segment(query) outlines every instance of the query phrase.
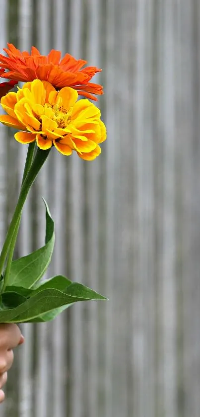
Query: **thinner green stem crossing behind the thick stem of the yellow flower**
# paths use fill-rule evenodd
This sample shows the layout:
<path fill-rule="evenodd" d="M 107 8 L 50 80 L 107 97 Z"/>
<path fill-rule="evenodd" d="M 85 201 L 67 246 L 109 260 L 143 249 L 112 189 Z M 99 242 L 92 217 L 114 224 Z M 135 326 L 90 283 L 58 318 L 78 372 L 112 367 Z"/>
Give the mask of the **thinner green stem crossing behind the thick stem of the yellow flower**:
<path fill-rule="evenodd" d="M 32 164 L 32 161 L 33 161 L 33 156 L 34 156 L 35 145 L 36 145 L 36 142 L 32 142 L 28 146 L 28 151 L 27 151 L 27 156 L 26 156 L 26 163 L 25 163 L 25 167 L 24 167 L 24 173 L 23 173 L 21 186 L 23 185 L 24 180 L 26 178 L 26 175 L 27 175 L 27 173 L 28 173 L 28 171 L 31 167 L 31 164 Z M 18 231 L 19 231 L 20 220 L 21 220 L 21 215 L 20 215 L 19 220 L 16 224 L 16 227 L 14 229 L 14 233 L 13 233 L 13 236 L 12 236 L 12 240 L 10 242 L 10 247 L 9 247 L 9 252 L 8 252 L 7 262 L 6 262 L 6 268 L 5 268 L 5 272 L 4 272 L 4 282 L 7 282 L 8 279 L 9 279 L 8 277 L 9 277 L 9 274 L 10 274 L 12 257 L 13 257 L 13 253 L 14 253 L 14 248 L 15 248 L 15 243 L 16 243 L 16 240 L 17 240 Z"/>

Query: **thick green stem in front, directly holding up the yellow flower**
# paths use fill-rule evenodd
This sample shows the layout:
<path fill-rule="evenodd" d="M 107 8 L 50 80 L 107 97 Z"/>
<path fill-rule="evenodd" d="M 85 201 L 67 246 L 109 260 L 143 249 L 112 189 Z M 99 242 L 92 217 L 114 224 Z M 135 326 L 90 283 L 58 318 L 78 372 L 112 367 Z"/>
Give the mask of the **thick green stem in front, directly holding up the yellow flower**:
<path fill-rule="evenodd" d="M 7 256 L 7 252 L 9 250 L 9 246 L 15 231 L 15 228 L 17 226 L 17 223 L 20 219 L 21 216 L 21 211 L 23 208 L 23 205 L 25 203 L 28 191 L 33 183 L 33 181 L 35 180 L 38 172 L 40 171 L 40 169 L 42 168 L 43 164 L 45 163 L 48 155 L 49 155 L 50 149 L 43 151 L 40 148 L 37 149 L 33 164 L 30 167 L 30 170 L 23 182 L 23 185 L 21 187 L 21 191 L 19 194 L 19 199 L 17 202 L 17 205 L 15 207 L 15 211 L 12 217 L 12 220 L 10 222 L 10 226 L 8 228 L 7 231 L 7 235 L 5 238 L 5 242 L 3 244 L 3 248 L 1 250 L 0 253 L 0 274 L 2 273 L 2 269 L 3 269 L 3 265 Z M 7 276 L 7 280 L 3 280 L 3 286 L 2 286 L 2 290 L 1 292 L 4 291 L 5 287 L 7 286 L 7 281 L 8 281 L 9 276 Z"/>

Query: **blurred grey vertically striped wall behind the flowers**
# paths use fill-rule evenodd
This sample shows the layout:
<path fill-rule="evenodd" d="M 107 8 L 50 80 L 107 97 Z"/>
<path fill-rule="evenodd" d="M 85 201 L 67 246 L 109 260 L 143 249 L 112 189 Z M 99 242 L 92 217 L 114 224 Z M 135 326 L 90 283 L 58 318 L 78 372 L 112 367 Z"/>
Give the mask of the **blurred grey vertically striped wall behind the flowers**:
<path fill-rule="evenodd" d="M 54 149 L 18 250 L 56 224 L 48 277 L 106 295 L 24 325 L 1 417 L 200 416 L 200 0 L 0 0 L 0 50 L 55 48 L 103 68 L 108 139 Z M 0 245 L 27 147 L 0 126 Z"/>

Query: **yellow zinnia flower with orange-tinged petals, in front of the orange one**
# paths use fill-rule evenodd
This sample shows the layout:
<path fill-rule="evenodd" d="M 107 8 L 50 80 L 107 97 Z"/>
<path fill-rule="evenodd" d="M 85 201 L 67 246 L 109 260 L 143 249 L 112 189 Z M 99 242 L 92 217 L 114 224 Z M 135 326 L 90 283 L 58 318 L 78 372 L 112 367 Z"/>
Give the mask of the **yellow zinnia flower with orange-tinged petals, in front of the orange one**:
<path fill-rule="evenodd" d="M 36 140 L 40 149 L 54 145 L 64 155 L 76 151 L 80 158 L 92 161 L 101 153 L 98 144 L 105 141 L 106 128 L 100 110 L 89 100 L 77 98 L 73 88 L 57 91 L 47 81 L 34 80 L 1 98 L 7 114 L 0 116 L 0 122 L 21 130 L 14 135 L 20 143 Z"/>

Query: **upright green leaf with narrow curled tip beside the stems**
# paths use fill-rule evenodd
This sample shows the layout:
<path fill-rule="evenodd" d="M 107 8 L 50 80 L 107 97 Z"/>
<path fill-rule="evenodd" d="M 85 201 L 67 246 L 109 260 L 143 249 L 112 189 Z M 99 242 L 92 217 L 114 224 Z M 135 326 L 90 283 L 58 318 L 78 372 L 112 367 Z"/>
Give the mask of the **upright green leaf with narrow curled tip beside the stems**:
<path fill-rule="evenodd" d="M 54 222 L 45 200 L 44 203 L 46 206 L 45 246 L 27 256 L 12 261 L 9 285 L 32 288 L 44 275 L 51 261 L 55 242 Z"/>

